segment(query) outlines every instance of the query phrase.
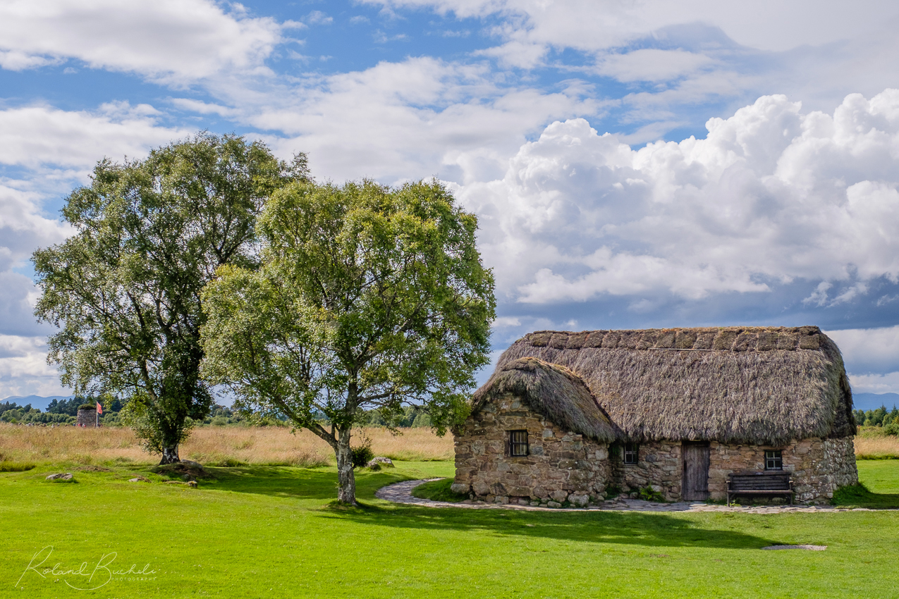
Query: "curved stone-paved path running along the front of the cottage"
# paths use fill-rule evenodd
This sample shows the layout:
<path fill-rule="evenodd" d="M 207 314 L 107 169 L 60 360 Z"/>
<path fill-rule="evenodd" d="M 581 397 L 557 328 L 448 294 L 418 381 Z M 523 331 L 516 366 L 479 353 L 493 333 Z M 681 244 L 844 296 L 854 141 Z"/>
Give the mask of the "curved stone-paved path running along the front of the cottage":
<path fill-rule="evenodd" d="M 643 499 L 606 499 L 600 505 L 590 507 L 539 507 L 516 506 L 513 504 L 488 504 L 484 501 L 466 500 L 461 503 L 449 501 L 432 501 L 432 499 L 420 499 L 412 497 L 412 489 L 424 482 L 441 479 L 404 480 L 395 482 L 387 487 L 381 487 L 375 493 L 378 499 L 386 499 L 395 503 L 404 503 L 412 506 L 423 507 L 461 507 L 464 509 L 521 509 L 531 512 L 583 512 L 583 511 L 610 511 L 610 512 L 743 512 L 744 514 L 785 514 L 788 512 L 874 512 L 884 510 L 872 510 L 867 507 L 832 507 L 832 506 L 719 506 L 708 503 L 654 503 Z"/>

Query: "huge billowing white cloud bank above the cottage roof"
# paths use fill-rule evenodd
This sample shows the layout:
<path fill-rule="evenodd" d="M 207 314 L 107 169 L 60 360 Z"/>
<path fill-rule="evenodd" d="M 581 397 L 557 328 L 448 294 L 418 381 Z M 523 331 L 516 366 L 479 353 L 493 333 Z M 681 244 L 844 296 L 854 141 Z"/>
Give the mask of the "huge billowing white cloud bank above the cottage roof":
<path fill-rule="evenodd" d="M 852 94 L 832 115 L 763 96 L 707 128 L 635 151 L 555 122 L 503 180 L 459 187 L 503 295 L 636 303 L 803 279 L 819 282 L 806 304 L 832 305 L 899 281 L 899 91 Z"/>

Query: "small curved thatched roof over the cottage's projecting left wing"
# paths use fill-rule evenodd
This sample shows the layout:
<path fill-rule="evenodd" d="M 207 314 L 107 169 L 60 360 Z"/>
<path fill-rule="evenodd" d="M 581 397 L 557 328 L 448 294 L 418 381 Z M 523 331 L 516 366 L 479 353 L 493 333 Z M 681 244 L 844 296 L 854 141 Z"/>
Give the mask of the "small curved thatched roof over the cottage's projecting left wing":
<path fill-rule="evenodd" d="M 504 393 L 514 393 L 532 410 L 559 427 L 589 436 L 602 443 L 615 440 L 609 418 L 593 399 L 587 385 L 576 374 L 534 357 L 507 361 L 472 397 L 473 410 Z"/>

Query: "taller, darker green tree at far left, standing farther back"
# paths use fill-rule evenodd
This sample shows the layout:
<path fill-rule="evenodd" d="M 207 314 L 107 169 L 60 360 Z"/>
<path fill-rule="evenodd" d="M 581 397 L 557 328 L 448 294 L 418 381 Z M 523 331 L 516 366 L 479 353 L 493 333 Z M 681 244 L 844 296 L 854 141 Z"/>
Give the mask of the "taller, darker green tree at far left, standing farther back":
<path fill-rule="evenodd" d="M 209 413 L 200 379 L 200 292 L 216 269 L 258 262 L 265 201 L 306 181 L 304 154 L 277 160 L 261 143 L 200 133 L 147 159 L 102 160 L 62 214 L 76 233 L 34 252 L 35 313 L 60 330 L 50 363 L 76 393 L 118 392 L 162 463 L 178 462 L 192 419 Z"/>

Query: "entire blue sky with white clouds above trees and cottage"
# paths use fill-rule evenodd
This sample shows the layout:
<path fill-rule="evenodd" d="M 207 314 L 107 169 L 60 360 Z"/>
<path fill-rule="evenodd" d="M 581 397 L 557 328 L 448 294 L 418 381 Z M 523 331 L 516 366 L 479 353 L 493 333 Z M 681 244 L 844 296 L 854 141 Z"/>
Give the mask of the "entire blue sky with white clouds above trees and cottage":
<path fill-rule="evenodd" d="M 818 324 L 899 392 L 899 5 L 0 5 L 0 398 L 64 393 L 29 257 L 104 156 L 200 129 L 436 176 L 529 330 Z"/>

